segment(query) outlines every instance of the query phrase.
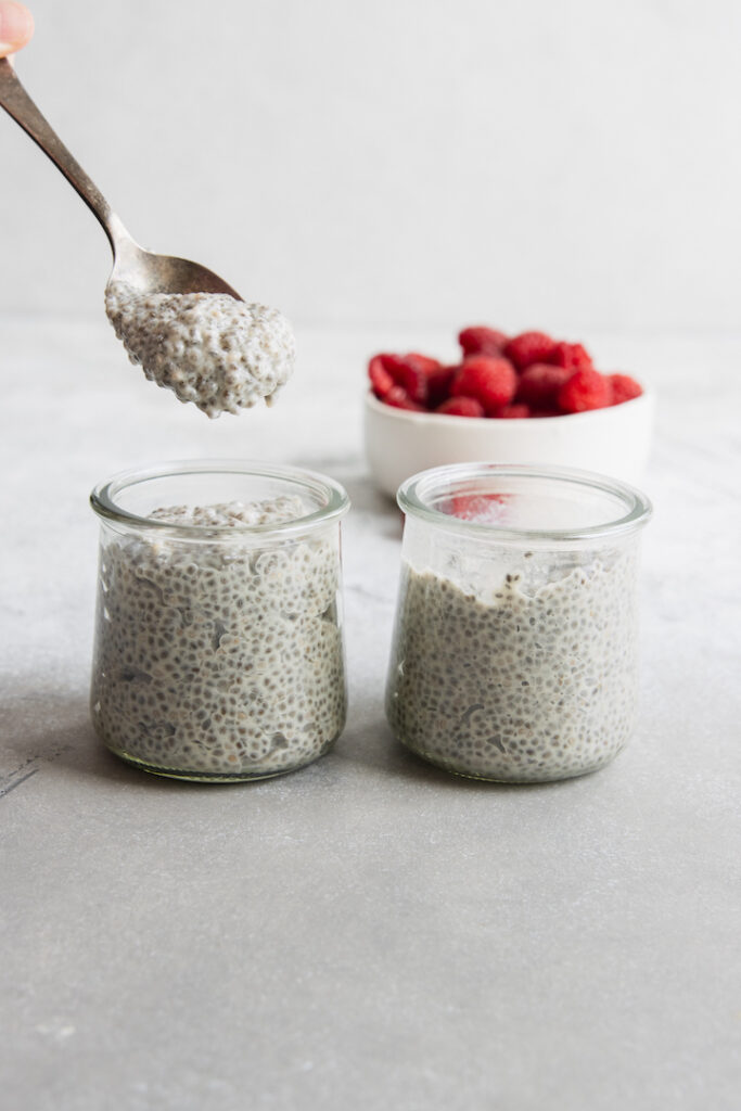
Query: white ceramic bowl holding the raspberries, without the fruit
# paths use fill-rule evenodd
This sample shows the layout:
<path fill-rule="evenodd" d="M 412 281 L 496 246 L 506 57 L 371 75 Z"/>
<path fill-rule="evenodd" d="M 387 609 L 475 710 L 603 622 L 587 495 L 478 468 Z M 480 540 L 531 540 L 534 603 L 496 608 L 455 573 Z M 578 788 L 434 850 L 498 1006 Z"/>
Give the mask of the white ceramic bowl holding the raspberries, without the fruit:
<path fill-rule="evenodd" d="M 366 454 L 385 493 L 443 463 L 551 463 L 640 486 L 651 447 L 654 396 L 563 417 L 497 420 L 420 413 L 366 398 Z"/>

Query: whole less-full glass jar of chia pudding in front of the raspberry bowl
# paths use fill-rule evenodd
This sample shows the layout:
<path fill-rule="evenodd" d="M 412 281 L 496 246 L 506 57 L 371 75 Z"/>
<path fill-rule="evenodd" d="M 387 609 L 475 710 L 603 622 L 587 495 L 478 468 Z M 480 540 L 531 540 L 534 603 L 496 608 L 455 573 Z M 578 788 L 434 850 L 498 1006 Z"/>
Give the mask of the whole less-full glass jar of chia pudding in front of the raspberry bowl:
<path fill-rule="evenodd" d="M 462 463 L 404 482 L 387 685 L 395 737 L 448 771 L 530 783 L 608 763 L 637 711 L 638 490 Z"/>

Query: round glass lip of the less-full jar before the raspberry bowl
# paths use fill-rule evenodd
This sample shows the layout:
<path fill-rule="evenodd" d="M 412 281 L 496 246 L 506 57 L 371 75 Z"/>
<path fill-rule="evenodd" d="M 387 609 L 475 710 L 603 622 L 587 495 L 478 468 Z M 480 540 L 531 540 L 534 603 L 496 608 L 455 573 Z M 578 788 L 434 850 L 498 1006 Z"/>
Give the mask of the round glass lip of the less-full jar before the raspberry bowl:
<path fill-rule="evenodd" d="M 612 498 L 620 498 L 625 512 L 612 520 L 581 529 L 517 529 L 504 528 L 489 521 L 467 521 L 443 513 L 432 508 L 425 501 L 425 496 L 439 491 L 445 486 L 452 487 L 458 481 L 471 481 L 483 478 L 522 478 L 525 480 L 547 479 L 572 487 L 584 487 L 601 491 Z M 651 519 L 653 507 L 650 500 L 635 487 L 607 474 L 593 471 L 578 470 L 571 467 L 548 467 L 529 463 L 450 463 L 444 467 L 432 467 L 429 470 L 412 474 L 401 483 L 397 492 L 399 507 L 405 514 L 428 521 L 454 532 L 469 537 L 497 539 L 502 541 L 550 541 L 558 543 L 577 543 L 584 540 L 613 538 L 634 532 Z"/>

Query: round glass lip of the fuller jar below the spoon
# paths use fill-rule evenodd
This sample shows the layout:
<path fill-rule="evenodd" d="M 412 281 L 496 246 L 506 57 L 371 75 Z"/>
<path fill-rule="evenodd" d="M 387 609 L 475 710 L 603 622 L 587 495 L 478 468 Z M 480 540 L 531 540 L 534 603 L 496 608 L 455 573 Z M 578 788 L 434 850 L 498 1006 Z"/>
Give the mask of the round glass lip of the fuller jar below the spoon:
<path fill-rule="evenodd" d="M 183 474 L 219 473 L 251 474 L 258 478 L 291 481 L 299 487 L 303 487 L 304 490 L 311 491 L 313 494 L 321 496 L 326 500 L 326 503 L 320 509 L 290 521 L 219 527 L 214 524 L 173 524 L 170 521 L 160 521 L 151 517 L 133 513 L 124 509 L 117 501 L 123 490 L 152 479 L 176 478 Z M 344 517 L 350 509 L 350 499 L 344 488 L 339 482 L 336 482 L 334 479 L 301 467 L 260 463 L 244 459 L 184 459 L 119 471 L 93 488 L 90 494 L 90 504 L 99 517 L 119 524 L 147 528 L 153 531 L 167 531 L 171 534 L 177 533 L 178 536 L 188 537 L 191 540 L 208 539 L 213 541 L 217 538 L 229 539 L 239 536 L 264 536 L 266 533 L 286 536 L 306 532 L 313 527 Z"/>

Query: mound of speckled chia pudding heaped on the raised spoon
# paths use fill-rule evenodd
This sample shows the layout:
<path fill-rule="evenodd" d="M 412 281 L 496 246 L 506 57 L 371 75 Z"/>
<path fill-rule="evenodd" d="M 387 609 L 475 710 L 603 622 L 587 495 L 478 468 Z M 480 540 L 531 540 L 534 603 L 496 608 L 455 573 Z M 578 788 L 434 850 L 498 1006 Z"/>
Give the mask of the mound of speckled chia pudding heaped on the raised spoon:
<path fill-rule="evenodd" d="M 131 362 L 209 417 L 270 404 L 296 359 L 277 309 L 226 293 L 143 293 L 109 282 L 106 313 Z"/>

